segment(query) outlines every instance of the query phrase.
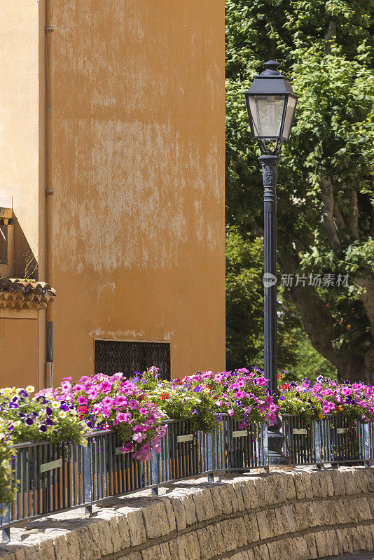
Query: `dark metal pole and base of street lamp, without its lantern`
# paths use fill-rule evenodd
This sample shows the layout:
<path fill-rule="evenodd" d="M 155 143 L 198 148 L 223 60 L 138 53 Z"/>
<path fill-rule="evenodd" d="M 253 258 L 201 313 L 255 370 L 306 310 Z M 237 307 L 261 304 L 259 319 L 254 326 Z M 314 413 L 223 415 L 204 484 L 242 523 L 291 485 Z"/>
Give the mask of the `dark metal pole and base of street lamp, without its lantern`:
<path fill-rule="evenodd" d="M 263 167 L 263 220 L 264 220 L 264 363 L 269 389 L 278 398 L 277 377 L 277 169 L 281 158 L 277 155 L 261 155 L 258 160 Z M 288 465 L 282 454 L 285 437 L 280 433 L 281 421 L 268 431 L 270 465 Z"/>

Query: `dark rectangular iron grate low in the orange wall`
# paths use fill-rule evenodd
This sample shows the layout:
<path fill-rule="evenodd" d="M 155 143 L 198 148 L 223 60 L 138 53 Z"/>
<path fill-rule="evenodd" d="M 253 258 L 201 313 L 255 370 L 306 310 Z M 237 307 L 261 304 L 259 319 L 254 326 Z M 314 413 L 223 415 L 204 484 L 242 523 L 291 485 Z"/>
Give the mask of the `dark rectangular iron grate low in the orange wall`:
<path fill-rule="evenodd" d="M 95 340 L 95 373 L 123 372 L 130 377 L 147 367 L 160 368 L 161 379 L 170 379 L 170 344 L 168 342 L 126 342 Z"/>

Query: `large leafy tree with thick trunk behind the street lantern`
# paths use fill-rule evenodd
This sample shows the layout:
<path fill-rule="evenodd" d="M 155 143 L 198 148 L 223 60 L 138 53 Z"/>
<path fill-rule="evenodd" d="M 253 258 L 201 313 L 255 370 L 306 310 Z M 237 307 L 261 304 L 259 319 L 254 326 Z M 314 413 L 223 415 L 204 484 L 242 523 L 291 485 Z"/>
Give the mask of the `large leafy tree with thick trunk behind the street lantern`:
<path fill-rule="evenodd" d="M 307 276 L 284 297 L 339 376 L 364 381 L 374 372 L 372 22 L 371 0 L 226 2 L 228 224 L 263 235 L 259 152 L 242 93 L 275 58 L 300 95 L 279 166 L 278 262 L 283 274 Z"/>

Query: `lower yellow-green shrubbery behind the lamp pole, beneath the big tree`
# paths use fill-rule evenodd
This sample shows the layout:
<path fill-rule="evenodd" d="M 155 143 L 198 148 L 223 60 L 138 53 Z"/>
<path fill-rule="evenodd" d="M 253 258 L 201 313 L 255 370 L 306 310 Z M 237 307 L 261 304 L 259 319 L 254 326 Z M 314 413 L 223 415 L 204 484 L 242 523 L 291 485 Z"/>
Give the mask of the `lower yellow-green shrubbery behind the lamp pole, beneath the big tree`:
<path fill-rule="evenodd" d="M 278 288 L 279 370 L 288 370 L 287 381 L 335 378 L 335 367 L 310 344 L 298 310 L 283 295 Z M 244 238 L 234 226 L 226 232 L 226 340 L 228 370 L 263 367 L 263 239 Z"/>

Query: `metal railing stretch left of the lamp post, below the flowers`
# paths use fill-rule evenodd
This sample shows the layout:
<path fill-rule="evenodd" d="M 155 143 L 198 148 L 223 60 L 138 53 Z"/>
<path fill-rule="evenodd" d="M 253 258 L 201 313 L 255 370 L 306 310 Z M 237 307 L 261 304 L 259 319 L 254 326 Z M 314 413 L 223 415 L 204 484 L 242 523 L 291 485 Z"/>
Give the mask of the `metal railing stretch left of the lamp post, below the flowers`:
<path fill-rule="evenodd" d="M 111 496 L 152 489 L 175 480 L 214 472 L 250 470 L 268 465 L 268 426 L 240 429 L 223 416 L 216 433 L 193 431 L 185 421 L 165 421 L 160 454 L 138 461 L 123 452 L 113 430 L 88 435 L 88 445 L 50 442 L 16 444 L 13 449 L 15 500 L 0 517 L 3 540 L 10 528 L 52 512 L 86 507 Z"/>

